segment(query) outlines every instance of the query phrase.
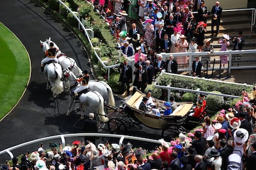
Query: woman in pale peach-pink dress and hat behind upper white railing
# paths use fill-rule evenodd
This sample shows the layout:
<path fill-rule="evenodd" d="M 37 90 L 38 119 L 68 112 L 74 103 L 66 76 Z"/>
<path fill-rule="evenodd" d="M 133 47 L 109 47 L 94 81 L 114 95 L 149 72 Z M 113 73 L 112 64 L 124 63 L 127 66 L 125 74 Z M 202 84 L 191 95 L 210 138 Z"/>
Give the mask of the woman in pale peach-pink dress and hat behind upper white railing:
<path fill-rule="evenodd" d="M 186 39 L 187 37 L 184 34 L 182 34 L 179 38 L 180 39 L 177 44 L 179 52 L 187 52 L 187 47 L 189 47 L 189 44 L 187 43 Z M 177 57 L 178 64 L 187 64 L 187 62 L 187 55 Z"/>

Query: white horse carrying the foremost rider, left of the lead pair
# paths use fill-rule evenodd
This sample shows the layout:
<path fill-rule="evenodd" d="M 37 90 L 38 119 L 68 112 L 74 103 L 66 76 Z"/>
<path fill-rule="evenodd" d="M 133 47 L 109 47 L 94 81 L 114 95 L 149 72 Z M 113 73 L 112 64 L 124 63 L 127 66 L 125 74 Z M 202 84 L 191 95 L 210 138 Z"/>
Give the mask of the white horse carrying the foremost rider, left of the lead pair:
<path fill-rule="evenodd" d="M 41 42 L 41 41 L 40 41 Z M 43 51 L 49 49 L 48 44 L 41 44 Z M 51 89 L 53 97 L 57 97 L 63 91 L 62 68 L 58 63 L 48 63 L 45 65 L 44 73 L 46 75 L 46 89 Z"/>

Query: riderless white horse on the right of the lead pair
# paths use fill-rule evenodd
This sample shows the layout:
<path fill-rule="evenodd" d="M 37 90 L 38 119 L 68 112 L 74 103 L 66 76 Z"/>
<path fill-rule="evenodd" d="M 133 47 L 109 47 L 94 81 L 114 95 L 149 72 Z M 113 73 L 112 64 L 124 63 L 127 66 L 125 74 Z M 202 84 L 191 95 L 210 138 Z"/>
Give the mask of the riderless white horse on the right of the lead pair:
<path fill-rule="evenodd" d="M 49 37 L 49 39 L 46 39 L 45 41 L 48 46 L 51 42 L 51 37 Z M 53 42 L 54 47 L 56 47 L 56 49 L 59 50 L 59 47 L 57 46 L 57 44 L 55 42 Z M 62 53 L 60 50 L 57 52 L 57 58 L 58 58 L 58 62 L 62 67 L 62 70 L 64 70 L 67 67 L 71 67 L 73 73 L 75 74 L 75 76 L 79 77 L 82 75 L 82 70 L 77 66 L 77 63 L 75 62 L 74 59 L 67 57 L 66 54 Z"/>

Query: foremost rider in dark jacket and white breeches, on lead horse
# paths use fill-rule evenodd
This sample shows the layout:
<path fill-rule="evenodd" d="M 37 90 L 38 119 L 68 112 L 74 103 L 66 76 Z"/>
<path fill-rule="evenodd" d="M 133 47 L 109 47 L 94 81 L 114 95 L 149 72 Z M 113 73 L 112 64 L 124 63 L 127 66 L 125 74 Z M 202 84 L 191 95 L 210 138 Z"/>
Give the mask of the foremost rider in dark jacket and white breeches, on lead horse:
<path fill-rule="evenodd" d="M 54 61 L 58 63 L 58 59 L 56 57 L 56 53 L 58 52 L 58 49 L 54 47 L 53 42 L 50 43 L 50 48 L 45 52 L 45 55 L 47 56 L 45 59 L 41 60 L 41 70 L 40 73 L 43 74 L 43 70 L 45 67 L 45 63 L 48 63 L 50 61 Z"/>

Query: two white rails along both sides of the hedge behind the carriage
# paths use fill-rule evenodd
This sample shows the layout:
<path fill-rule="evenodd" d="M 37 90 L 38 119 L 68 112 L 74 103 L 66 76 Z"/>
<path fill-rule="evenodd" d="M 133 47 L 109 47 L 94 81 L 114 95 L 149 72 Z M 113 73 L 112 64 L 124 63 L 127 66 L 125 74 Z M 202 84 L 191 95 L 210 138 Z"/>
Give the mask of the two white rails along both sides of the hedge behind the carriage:
<path fill-rule="evenodd" d="M 170 76 L 180 76 L 181 78 L 187 78 L 187 76 L 184 76 L 184 75 L 177 75 L 177 74 L 173 74 L 173 73 L 165 73 L 165 71 L 161 71 L 160 73 L 160 76 L 163 75 L 163 74 L 166 74 L 166 75 L 170 75 Z M 205 79 L 205 78 L 198 78 L 198 77 L 190 77 L 192 79 Z M 250 84 L 241 84 L 241 83 L 232 83 L 232 82 L 224 82 L 224 81 L 218 81 L 218 80 L 215 80 L 215 79 L 207 79 L 208 81 L 213 81 L 213 82 L 218 82 L 218 83 L 221 83 L 221 84 L 237 84 L 237 85 L 241 85 L 241 86 L 248 86 L 248 87 L 252 87 L 252 85 Z M 168 101 L 169 101 L 169 98 L 171 96 L 171 90 L 174 90 L 174 91 L 184 91 L 184 92 L 194 92 L 196 94 L 200 94 L 200 93 L 203 93 L 203 94 L 211 94 L 211 95 L 218 95 L 218 96 L 222 96 L 222 97 L 231 97 L 231 98 L 240 98 L 241 96 L 236 96 L 236 95 L 229 95 L 229 94 L 218 94 L 218 93 L 215 93 L 215 92 L 207 92 L 207 91 L 201 91 L 200 89 L 196 89 L 196 90 L 193 90 L 193 89 L 184 89 L 184 88 L 179 88 L 179 87 L 171 87 L 171 86 L 161 86 L 161 85 L 158 85 L 158 81 L 156 80 L 155 82 L 155 87 L 158 87 L 160 89 L 167 89 L 168 90 Z"/>

